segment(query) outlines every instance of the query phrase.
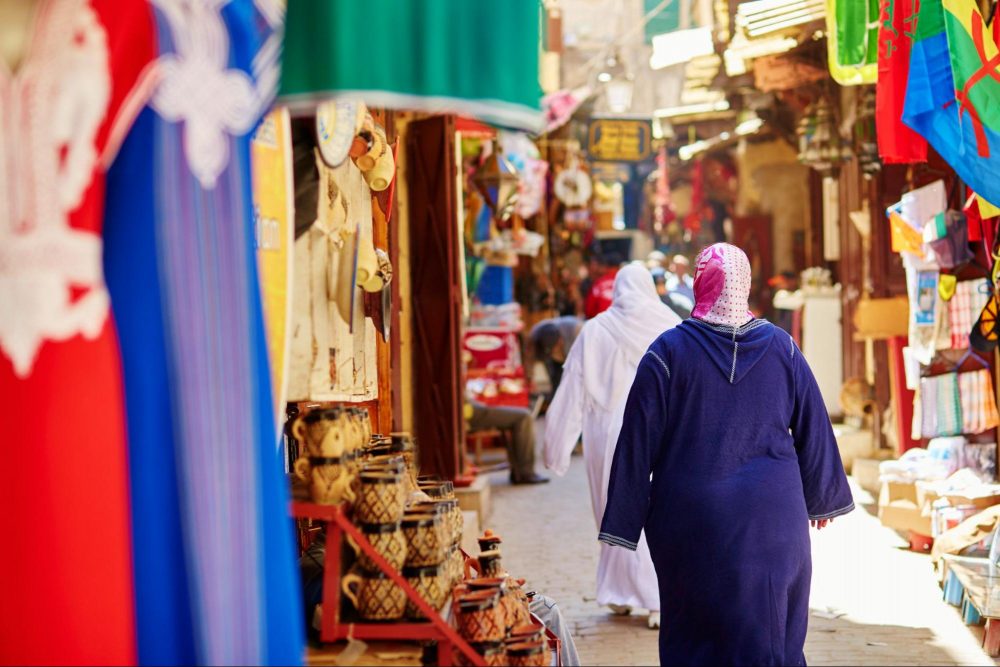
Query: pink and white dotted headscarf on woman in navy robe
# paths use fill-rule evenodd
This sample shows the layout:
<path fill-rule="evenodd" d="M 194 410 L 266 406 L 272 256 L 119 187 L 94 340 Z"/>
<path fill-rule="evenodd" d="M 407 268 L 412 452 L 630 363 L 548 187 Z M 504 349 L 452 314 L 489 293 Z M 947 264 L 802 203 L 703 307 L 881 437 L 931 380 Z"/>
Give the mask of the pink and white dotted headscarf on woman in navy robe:
<path fill-rule="evenodd" d="M 753 319 L 746 253 L 728 243 L 716 243 L 698 253 L 691 316 L 728 327 L 743 326 Z"/>

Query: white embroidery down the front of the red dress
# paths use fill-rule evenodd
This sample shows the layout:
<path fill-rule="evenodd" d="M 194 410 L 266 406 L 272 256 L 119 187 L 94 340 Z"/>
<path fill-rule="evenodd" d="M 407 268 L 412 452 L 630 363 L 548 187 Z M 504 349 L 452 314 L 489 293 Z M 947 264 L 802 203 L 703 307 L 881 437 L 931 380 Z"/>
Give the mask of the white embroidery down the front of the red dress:
<path fill-rule="evenodd" d="M 22 70 L 0 75 L 0 351 L 20 378 L 46 340 L 97 337 L 110 302 L 100 236 L 69 224 L 111 99 L 107 33 L 83 0 L 38 11 Z"/>

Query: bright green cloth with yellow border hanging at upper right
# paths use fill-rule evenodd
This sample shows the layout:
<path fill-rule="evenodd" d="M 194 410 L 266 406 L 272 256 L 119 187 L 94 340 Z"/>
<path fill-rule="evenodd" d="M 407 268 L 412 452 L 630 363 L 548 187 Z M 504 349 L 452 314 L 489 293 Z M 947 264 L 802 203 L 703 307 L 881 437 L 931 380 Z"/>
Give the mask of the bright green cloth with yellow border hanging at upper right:
<path fill-rule="evenodd" d="M 878 79 L 878 0 L 826 0 L 827 58 L 842 86 Z"/>

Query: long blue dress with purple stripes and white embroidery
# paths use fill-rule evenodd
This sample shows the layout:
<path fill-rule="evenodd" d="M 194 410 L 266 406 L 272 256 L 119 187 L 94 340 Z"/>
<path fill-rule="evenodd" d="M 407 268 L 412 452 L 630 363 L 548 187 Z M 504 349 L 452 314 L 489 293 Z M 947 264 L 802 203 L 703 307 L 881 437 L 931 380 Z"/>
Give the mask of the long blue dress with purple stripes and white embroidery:
<path fill-rule="evenodd" d="M 139 662 L 297 664 L 249 171 L 281 10 L 154 4 L 159 77 L 111 170 L 105 257 L 129 406 Z"/>

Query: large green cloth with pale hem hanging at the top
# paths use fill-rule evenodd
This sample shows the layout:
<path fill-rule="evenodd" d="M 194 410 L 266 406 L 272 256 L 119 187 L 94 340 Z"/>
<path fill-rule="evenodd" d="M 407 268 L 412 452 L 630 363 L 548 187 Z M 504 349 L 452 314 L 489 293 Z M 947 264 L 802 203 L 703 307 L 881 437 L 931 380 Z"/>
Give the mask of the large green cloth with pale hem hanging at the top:
<path fill-rule="evenodd" d="M 543 127 L 539 0 L 289 0 L 280 102 L 337 96 Z"/>

